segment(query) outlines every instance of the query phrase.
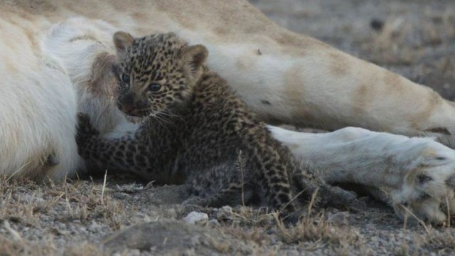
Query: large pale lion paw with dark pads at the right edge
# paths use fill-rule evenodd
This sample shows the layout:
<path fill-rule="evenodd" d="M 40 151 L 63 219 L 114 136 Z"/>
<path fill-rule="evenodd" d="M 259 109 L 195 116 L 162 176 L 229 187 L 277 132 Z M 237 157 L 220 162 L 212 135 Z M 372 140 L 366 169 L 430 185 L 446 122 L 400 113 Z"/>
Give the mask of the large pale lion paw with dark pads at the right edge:
<path fill-rule="evenodd" d="M 416 161 L 391 193 L 393 208 L 401 218 L 444 224 L 455 216 L 455 151 L 434 142 Z"/>

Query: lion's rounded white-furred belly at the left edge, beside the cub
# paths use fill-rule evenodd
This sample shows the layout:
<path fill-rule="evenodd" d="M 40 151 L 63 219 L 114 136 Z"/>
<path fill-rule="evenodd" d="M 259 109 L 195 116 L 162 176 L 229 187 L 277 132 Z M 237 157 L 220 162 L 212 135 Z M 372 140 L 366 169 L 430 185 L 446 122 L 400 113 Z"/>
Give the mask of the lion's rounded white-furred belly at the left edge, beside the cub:
<path fill-rule="evenodd" d="M 71 176 L 80 164 L 73 85 L 37 27 L 18 18 L 0 25 L 0 174 Z"/>

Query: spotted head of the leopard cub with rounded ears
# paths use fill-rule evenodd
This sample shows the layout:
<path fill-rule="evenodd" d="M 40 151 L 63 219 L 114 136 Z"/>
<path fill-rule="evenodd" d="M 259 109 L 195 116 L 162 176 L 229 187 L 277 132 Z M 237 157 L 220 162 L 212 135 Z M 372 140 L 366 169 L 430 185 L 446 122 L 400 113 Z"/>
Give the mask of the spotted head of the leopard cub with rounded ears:
<path fill-rule="evenodd" d="M 171 112 L 188 99 L 208 55 L 204 46 L 188 46 L 174 33 L 133 38 L 119 31 L 114 34 L 114 45 L 118 106 L 137 117 Z"/>

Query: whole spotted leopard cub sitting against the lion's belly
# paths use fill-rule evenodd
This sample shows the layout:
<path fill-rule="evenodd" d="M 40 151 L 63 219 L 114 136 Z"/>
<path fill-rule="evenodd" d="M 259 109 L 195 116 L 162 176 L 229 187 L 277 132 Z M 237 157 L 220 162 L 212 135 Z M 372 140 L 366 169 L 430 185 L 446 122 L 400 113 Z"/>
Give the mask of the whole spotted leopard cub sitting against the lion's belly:
<path fill-rule="evenodd" d="M 174 33 L 133 38 L 121 31 L 114 45 L 118 107 L 146 121 L 134 133 L 109 139 L 80 115 L 82 158 L 159 183 L 187 183 L 193 197 L 186 203 L 203 206 L 245 203 L 294 213 L 300 195 L 308 198 L 318 189 L 330 200 L 336 194 L 299 168 L 225 80 L 205 66 L 204 46 L 189 46 Z"/>

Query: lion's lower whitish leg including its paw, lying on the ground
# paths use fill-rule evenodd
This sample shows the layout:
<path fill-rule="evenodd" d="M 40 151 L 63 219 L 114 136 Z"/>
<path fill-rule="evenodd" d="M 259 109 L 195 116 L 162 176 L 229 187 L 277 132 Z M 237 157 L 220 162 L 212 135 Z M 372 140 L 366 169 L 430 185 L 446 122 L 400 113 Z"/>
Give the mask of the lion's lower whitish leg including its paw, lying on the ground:
<path fill-rule="evenodd" d="M 387 203 L 401 217 L 410 210 L 417 218 L 441 223 L 455 211 L 455 151 L 432 139 L 354 127 L 326 134 L 269 129 L 328 183 L 385 189 Z"/>

